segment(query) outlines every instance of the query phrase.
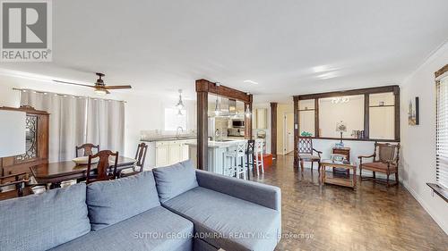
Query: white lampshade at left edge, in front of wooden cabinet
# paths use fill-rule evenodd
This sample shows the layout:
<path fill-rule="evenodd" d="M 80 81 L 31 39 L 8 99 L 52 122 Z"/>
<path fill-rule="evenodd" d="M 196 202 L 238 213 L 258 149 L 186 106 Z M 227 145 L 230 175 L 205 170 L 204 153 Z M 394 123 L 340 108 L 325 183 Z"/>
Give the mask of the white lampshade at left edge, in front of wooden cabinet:
<path fill-rule="evenodd" d="M 26 113 L 0 110 L 0 158 L 26 152 Z"/>

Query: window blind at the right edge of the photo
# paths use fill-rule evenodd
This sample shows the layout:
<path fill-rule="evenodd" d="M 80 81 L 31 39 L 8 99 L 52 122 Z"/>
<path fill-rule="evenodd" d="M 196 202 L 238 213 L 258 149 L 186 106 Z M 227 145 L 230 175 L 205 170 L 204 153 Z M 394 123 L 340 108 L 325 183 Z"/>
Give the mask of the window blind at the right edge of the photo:
<path fill-rule="evenodd" d="M 436 180 L 448 188 L 448 77 L 436 81 Z"/>

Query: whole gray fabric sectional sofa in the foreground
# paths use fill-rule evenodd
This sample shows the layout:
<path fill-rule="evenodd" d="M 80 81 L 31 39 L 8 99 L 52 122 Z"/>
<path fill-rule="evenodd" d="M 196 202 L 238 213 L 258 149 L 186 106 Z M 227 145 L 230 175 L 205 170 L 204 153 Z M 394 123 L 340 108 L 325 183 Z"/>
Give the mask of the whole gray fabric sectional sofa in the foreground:
<path fill-rule="evenodd" d="M 0 250 L 273 250 L 280 208 L 280 188 L 187 161 L 0 201 Z"/>

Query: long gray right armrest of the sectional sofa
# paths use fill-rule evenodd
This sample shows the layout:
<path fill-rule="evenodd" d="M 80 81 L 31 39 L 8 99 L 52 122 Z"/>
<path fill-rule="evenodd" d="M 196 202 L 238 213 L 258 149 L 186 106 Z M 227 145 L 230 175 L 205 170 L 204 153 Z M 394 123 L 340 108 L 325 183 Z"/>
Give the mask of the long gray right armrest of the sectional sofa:
<path fill-rule="evenodd" d="M 254 181 L 239 180 L 201 170 L 196 170 L 196 180 L 202 188 L 209 188 L 232 197 L 281 211 L 281 191 L 278 187 Z"/>

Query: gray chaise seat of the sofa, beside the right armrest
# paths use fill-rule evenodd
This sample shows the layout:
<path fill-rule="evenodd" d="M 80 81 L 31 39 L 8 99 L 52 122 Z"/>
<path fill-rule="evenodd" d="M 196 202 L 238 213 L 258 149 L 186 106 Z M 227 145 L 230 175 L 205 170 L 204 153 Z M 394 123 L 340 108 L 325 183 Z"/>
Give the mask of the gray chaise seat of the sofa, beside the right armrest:
<path fill-rule="evenodd" d="M 279 211 L 197 187 L 163 206 L 194 222 L 195 235 L 225 250 L 273 250 L 280 234 Z"/>

